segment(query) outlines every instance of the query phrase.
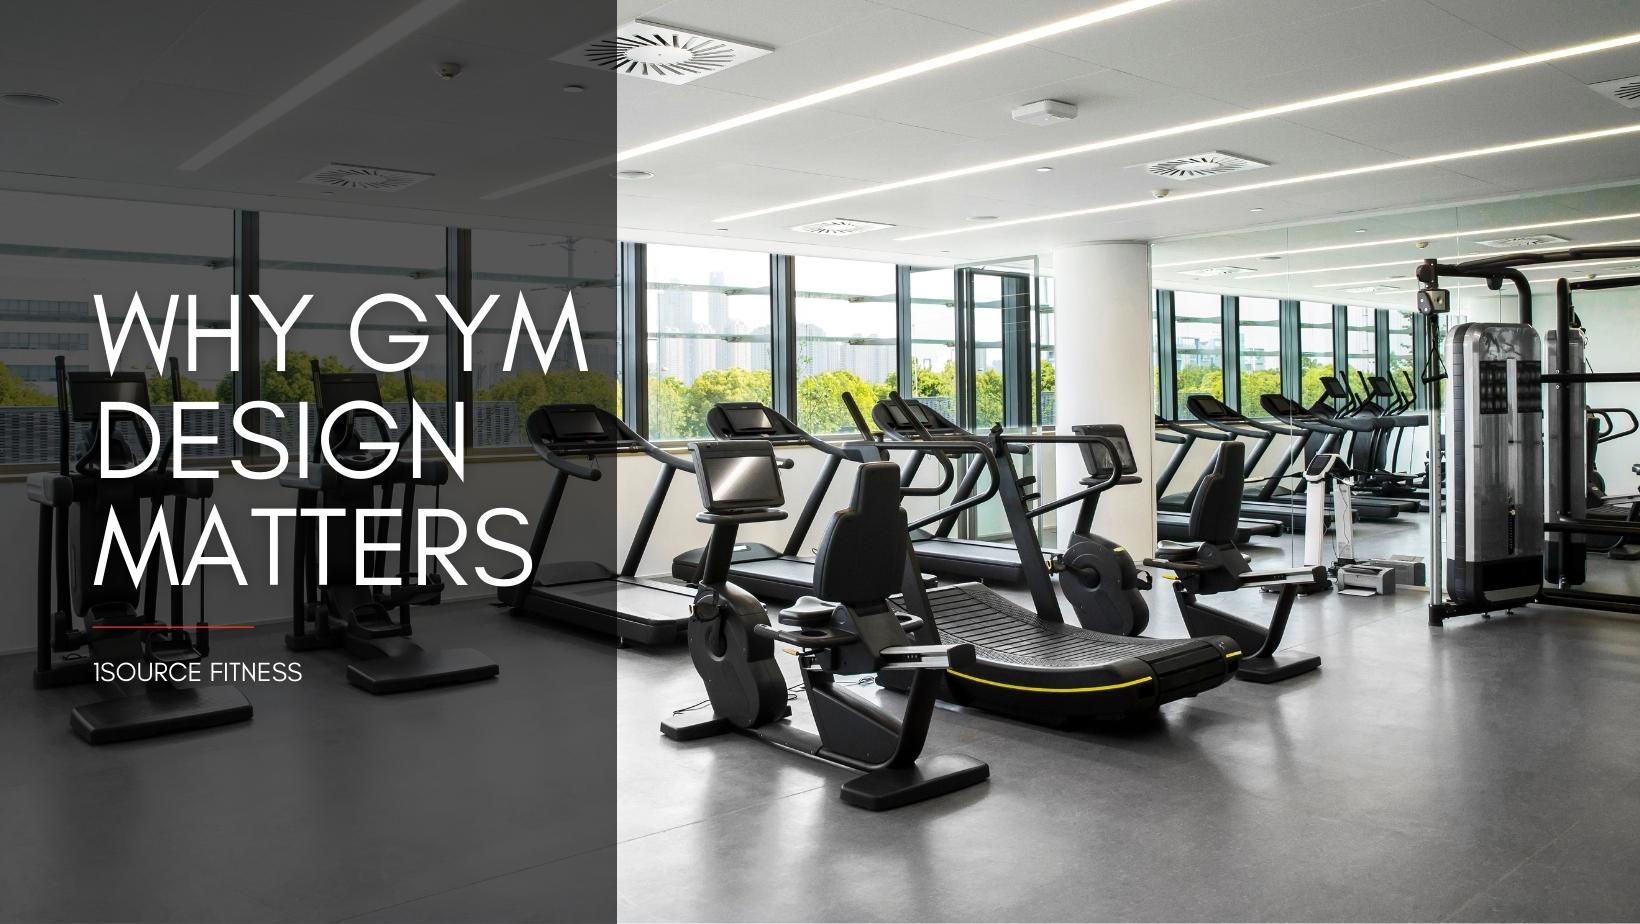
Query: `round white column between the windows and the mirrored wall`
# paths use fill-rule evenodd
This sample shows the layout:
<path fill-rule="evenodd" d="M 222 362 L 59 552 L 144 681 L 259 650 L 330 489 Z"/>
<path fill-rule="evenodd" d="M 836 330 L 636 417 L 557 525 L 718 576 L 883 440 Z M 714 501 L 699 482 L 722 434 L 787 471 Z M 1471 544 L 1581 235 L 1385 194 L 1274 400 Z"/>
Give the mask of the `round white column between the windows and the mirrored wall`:
<path fill-rule="evenodd" d="M 1156 497 L 1151 479 L 1150 412 L 1150 245 L 1092 243 L 1053 251 L 1055 277 L 1055 420 L 1058 432 L 1076 423 L 1120 423 L 1133 443 L 1145 484 L 1115 487 L 1099 501 L 1094 532 L 1127 547 L 1135 560 L 1156 543 Z M 1059 446 L 1058 496 L 1081 489 L 1087 476 L 1077 446 Z M 1059 547 L 1076 528 L 1076 507 L 1059 515 Z"/>

